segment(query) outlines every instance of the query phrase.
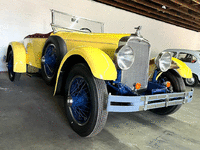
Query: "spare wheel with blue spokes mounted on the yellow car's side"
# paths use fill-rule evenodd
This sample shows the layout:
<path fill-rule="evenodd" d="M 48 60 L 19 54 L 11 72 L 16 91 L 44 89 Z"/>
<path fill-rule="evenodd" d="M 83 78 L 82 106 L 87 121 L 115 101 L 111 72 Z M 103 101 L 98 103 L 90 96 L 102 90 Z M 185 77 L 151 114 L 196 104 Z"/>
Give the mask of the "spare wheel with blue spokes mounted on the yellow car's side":
<path fill-rule="evenodd" d="M 67 53 L 65 41 L 59 36 L 50 36 L 43 48 L 41 73 L 47 84 L 55 83 L 58 68 Z"/>

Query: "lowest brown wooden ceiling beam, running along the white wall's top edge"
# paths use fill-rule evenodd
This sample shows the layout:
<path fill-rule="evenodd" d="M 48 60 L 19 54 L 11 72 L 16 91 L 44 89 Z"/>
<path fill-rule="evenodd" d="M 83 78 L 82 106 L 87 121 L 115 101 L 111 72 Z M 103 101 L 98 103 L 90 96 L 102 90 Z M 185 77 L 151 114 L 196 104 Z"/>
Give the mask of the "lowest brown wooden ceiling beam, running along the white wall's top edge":
<path fill-rule="evenodd" d="M 170 24 L 173 24 L 173 25 L 176 25 L 176 26 L 179 26 L 179 27 L 184 27 L 184 28 L 189 29 L 189 30 L 193 30 L 193 31 L 197 31 L 197 32 L 200 31 L 200 28 L 191 27 L 191 26 L 185 25 L 185 24 L 180 24 L 180 23 L 177 23 L 176 21 L 171 21 L 168 18 L 163 18 L 163 17 L 157 16 L 157 15 L 154 15 L 154 14 L 150 14 L 150 13 L 147 13 L 145 11 L 132 8 L 132 7 L 124 5 L 124 4 L 114 2 L 112 0 L 95 0 L 95 1 L 107 4 L 107 5 L 111 5 L 111 6 L 114 6 L 114 7 L 117 7 L 117 8 L 121 8 L 121 9 L 130 11 L 130 12 L 133 12 L 133 13 L 137 13 L 137 14 L 140 14 L 140 15 L 143 15 L 143 16 L 154 18 L 156 20 L 163 21 L 163 22 L 166 22 L 166 23 L 170 23 Z"/>

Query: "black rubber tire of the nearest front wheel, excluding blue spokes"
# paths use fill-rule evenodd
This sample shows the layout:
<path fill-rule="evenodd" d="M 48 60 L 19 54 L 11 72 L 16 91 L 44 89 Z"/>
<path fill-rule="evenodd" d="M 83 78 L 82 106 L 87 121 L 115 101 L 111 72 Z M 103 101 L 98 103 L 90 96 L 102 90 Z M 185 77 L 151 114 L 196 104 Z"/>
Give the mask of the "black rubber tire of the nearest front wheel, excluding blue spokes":
<path fill-rule="evenodd" d="M 80 74 L 79 74 L 80 73 Z M 79 63 L 73 66 L 71 69 L 69 76 L 66 79 L 66 85 L 65 85 L 65 109 L 66 109 L 66 115 L 69 122 L 73 122 L 73 119 L 71 117 L 71 114 L 69 114 L 69 108 L 66 107 L 66 99 L 68 95 L 68 85 L 70 83 L 70 80 L 74 78 L 76 75 L 83 75 L 83 77 L 87 76 L 88 83 L 90 82 L 90 86 L 93 89 L 93 96 L 95 98 L 94 103 L 96 103 L 93 106 L 93 115 L 92 118 L 90 118 L 90 122 L 88 122 L 84 127 L 80 127 L 79 125 L 73 123 L 70 124 L 72 129 L 79 134 L 82 137 L 93 137 L 97 135 L 105 126 L 107 121 L 108 112 L 107 109 L 105 109 L 106 99 L 108 98 L 108 92 L 107 87 L 104 80 L 95 78 L 91 70 L 89 69 L 87 64 Z M 97 111 L 97 112 L 96 112 Z M 95 117 L 96 116 L 96 117 Z M 83 129 L 83 130 L 82 130 Z"/>

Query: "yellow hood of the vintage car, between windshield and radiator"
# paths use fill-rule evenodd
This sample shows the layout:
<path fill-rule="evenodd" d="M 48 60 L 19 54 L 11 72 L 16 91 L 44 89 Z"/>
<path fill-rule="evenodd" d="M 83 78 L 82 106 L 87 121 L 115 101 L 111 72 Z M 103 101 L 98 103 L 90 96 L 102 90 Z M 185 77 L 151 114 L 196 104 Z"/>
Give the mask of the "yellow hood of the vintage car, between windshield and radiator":
<path fill-rule="evenodd" d="M 118 48 L 119 40 L 130 34 L 115 33 L 82 33 L 82 32 L 57 32 L 51 36 L 60 36 L 67 45 L 67 50 L 71 51 L 78 47 L 95 47 L 114 58 L 115 50 Z"/>

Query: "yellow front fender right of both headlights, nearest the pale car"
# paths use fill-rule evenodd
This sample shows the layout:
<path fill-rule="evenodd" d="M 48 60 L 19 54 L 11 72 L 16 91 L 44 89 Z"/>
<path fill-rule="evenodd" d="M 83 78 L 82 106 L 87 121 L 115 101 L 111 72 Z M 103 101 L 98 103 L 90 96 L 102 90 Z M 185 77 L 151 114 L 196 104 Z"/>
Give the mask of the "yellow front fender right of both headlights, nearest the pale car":
<path fill-rule="evenodd" d="M 172 61 L 178 65 L 179 68 L 176 70 L 183 78 L 192 78 L 192 71 L 184 62 L 174 57 L 172 57 Z"/>

